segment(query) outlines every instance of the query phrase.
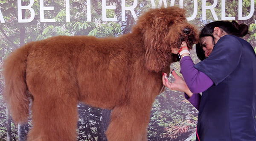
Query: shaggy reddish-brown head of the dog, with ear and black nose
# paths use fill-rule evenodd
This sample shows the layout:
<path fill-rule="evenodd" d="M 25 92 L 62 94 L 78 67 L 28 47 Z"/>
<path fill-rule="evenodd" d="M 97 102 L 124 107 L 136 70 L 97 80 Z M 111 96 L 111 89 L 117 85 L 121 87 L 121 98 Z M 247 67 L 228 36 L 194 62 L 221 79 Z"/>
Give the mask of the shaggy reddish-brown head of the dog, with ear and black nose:
<path fill-rule="evenodd" d="M 185 12 L 172 6 L 150 9 L 138 17 L 134 29 L 143 33 L 145 65 L 149 71 L 160 72 L 166 65 L 176 62 L 177 54 L 172 54 L 172 49 L 180 48 L 182 41 L 187 42 L 189 49 L 198 42 L 198 29 L 187 22 Z"/>

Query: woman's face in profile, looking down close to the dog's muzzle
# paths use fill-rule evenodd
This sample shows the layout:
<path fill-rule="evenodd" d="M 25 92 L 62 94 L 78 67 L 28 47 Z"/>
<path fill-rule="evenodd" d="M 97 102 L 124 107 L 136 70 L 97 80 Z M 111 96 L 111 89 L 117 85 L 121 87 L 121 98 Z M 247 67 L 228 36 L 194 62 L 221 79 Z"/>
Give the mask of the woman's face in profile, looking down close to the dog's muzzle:
<path fill-rule="evenodd" d="M 213 49 L 212 37 L 210 36 L 202 37 L 201 44 L 204 50 L 204 55 L 208 57 L 212 53 L 212 49 Z"/>

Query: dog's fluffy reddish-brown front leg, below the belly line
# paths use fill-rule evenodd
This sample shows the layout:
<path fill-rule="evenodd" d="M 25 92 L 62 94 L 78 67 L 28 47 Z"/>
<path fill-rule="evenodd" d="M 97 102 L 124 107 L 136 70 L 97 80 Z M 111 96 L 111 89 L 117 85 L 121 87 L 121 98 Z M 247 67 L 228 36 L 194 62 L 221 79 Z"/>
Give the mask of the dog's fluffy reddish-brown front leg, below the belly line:
<path fill-rule="evenodd" d="M 151 105 L 129 104 L 115 107 L 107 130 L 108 141 L 147 141 Z"/>

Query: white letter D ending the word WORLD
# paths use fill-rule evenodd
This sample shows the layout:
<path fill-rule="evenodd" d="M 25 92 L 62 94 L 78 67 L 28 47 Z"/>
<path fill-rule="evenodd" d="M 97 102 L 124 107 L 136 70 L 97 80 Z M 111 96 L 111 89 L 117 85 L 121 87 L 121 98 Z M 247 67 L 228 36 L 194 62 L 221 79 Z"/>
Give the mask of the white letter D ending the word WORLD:
<path fill-rule="evenodd" d="M 248 16 L 243 17 L 242 16 L 242 11 L 243 11 L 243 0 L 238 1 L 238 20 L 248 20 L 253 16 L 254 12 L 254 0 L 250 0 L 251 5 L 250 5 L 250 13 Z"/>

